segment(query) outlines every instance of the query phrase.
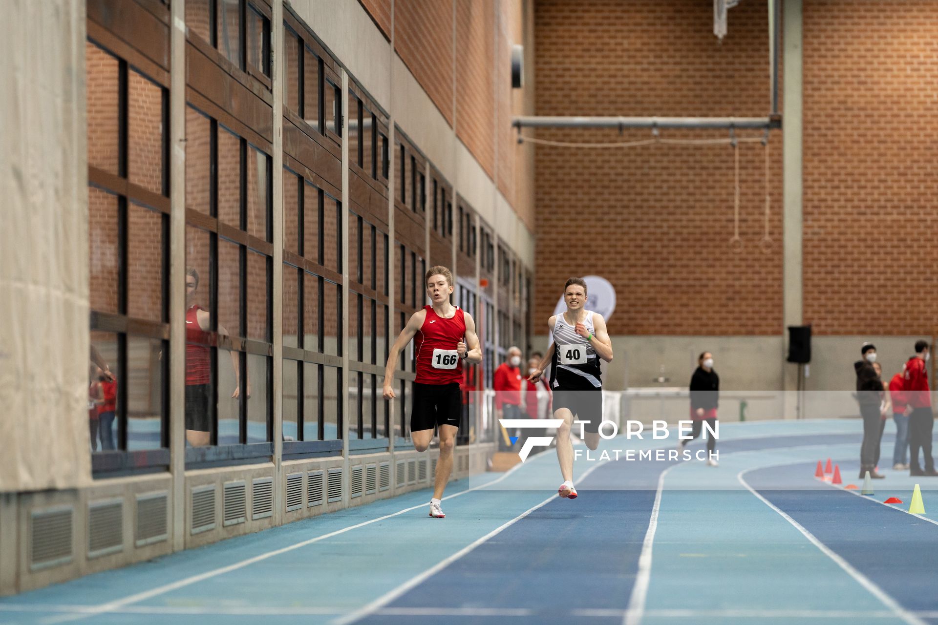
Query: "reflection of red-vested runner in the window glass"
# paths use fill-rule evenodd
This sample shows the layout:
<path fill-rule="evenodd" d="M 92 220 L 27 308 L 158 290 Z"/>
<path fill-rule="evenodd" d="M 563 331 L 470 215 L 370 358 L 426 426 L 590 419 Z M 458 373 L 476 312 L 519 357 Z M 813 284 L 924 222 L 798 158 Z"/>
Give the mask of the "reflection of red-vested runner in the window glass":
<path fill-rule="evenodd" d="M 199 447 L 211 441 L 208 423 L 209 389 L 212 383 L 212 359 L 205 335 L 212 327 L 211 316 L 202 306 L 195 303 L 199 291 L 199 273 L 186 270 L 186 440 L 189 445 Z M 219 325 L 219 335 L 228 331 Z M 234 366 L 234 393 L 241 392 L 241 367 L 238 353 L 231 352 Z M 248 386 L 250 396 L 250 385 Z"/>

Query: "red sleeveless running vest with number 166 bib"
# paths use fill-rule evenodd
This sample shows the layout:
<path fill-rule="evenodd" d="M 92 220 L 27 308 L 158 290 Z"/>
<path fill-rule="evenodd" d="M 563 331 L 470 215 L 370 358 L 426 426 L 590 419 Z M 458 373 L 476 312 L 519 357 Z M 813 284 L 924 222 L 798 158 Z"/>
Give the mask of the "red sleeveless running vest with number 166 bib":
<path fill-rule="evenodd" d="M 440 317 L 433 306 L 425 305 L 427 317 L 414 337 L 416 343 L 416 379 L 421 384 L 452 384 L 462 382 L 462 359 L 456 344 L 466 335 L 462 310 L 456 308 L 452 319 Z M 468 348 L 467 348 L 468 349 Z M 453 356 L 456 357 L 455 362 Z"/>

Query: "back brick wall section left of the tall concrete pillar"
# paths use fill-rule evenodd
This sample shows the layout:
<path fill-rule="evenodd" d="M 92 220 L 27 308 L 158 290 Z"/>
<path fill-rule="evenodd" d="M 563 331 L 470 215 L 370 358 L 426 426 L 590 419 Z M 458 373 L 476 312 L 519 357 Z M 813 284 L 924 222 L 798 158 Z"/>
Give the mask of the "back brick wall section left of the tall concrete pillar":
<path fill-rule="evenodd" d="M 735 7 L 722 45 L 712 34 L 712 10 L 686 0 L 538 0 L 537 114 L 765 115 L 764 3 Z M 544 130 L 537 136 L 629 141 L 651 133 Z M 526 149 L 536 149 L 538 326 L 552 313 L 567 277 L 596 274 L 616 289 L 613 335 L 781 334 L 779 132 L 772 136 L 775 245 L 768 254 L 758 249 L 764 211 L 758 144 L 740 148 L 741 254 L 728 245 L 734 171 L 725 145 Z"/>

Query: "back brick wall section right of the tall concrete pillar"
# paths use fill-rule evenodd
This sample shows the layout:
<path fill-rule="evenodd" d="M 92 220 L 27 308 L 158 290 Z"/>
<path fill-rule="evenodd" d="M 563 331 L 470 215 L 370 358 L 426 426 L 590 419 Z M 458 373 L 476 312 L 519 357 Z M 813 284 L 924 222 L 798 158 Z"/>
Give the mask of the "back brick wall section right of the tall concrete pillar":
<path fill-rule="evenodd" d="M 804 315 L 816 333 L 934 330 L 935 24 L 930 0 L 805 3 Z"/>

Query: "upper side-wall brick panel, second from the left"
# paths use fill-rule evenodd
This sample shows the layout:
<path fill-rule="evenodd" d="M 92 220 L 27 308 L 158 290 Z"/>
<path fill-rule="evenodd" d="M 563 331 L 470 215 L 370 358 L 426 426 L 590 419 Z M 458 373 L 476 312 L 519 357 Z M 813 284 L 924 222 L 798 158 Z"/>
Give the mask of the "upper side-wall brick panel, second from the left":
<path fill-rule="evenodd" d="M 453 3 L 394 3 L 394 48 L 436 107 L 453 125 Z"/>

